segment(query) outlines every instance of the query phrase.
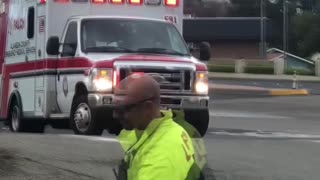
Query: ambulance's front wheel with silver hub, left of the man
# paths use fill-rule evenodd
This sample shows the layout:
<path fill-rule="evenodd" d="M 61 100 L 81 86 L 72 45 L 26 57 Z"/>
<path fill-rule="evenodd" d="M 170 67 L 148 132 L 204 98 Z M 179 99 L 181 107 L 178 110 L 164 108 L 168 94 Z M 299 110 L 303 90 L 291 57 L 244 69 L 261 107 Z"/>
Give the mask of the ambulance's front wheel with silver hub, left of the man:
<path fill-rule="evenodd" d="M 88 97 L 75 97 L 71 107 L 70 127 L 79 135 L 102 135 L 103 125 L 88 104 Z"/>

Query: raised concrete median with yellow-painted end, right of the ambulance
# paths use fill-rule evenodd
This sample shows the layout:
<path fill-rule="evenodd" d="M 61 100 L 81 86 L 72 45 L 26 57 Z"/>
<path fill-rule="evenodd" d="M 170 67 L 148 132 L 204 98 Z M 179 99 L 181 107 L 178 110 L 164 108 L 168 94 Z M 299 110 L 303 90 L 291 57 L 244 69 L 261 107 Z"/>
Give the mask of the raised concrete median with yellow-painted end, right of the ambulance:
<path fill-rule="evenodd" d="M 222 94 L 253 95 L 253 96 L 307 96 L 311 93 L 306 89 L 272 89 L 253 86 L 238 86 L 210 83 L 210 92 Z"/>

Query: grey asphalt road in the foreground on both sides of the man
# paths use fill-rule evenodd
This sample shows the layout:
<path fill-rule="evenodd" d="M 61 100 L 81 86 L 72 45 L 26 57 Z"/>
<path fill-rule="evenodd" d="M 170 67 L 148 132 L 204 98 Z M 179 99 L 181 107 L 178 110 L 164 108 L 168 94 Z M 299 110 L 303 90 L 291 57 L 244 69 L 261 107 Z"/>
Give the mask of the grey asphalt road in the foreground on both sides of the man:
<path fill-rule="evenodd" d="M 213 97 L 204 138 L 212 179 L 319 179 L 320 96 L 225 97 Z M 122 156 L 108 134 L 0 133 L 0 179 L 114 179 Z"/>

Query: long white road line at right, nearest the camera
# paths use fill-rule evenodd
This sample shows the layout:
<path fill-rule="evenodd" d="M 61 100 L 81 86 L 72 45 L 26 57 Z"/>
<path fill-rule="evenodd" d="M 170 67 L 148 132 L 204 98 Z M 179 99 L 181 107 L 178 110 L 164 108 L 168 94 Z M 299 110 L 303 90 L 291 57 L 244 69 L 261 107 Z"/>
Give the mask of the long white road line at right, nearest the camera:
<path fill-rule="evenodd" d="M 291 134 L 283 132 L 263 133 L 263 132 L 243 132 L 243 133 L 232 133 L 232 132 L 210 132 L 216 135 L 227 135 L 227 136 L 246 136 L 246 137 L 257 137 L 257 138 L 293 138 L 293 139 L 320 139 L 320 135 L 312 134 Z M 319 140 L 320 143 L 320 140 Z"/>

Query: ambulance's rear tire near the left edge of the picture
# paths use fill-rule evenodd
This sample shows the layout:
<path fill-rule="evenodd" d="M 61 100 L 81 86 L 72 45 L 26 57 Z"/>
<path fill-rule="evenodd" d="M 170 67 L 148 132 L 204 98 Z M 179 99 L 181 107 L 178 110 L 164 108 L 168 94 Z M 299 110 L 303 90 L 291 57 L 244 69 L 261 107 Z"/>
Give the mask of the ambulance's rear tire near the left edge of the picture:
<path fill-rule="evenodd" d="M 43 120 L 26 120 L 22 118 L 22 109 L 18 101 L 13 100 L 10 106 L 9 127 L 12 132 L 43 133 L 45 123 Z"/>

